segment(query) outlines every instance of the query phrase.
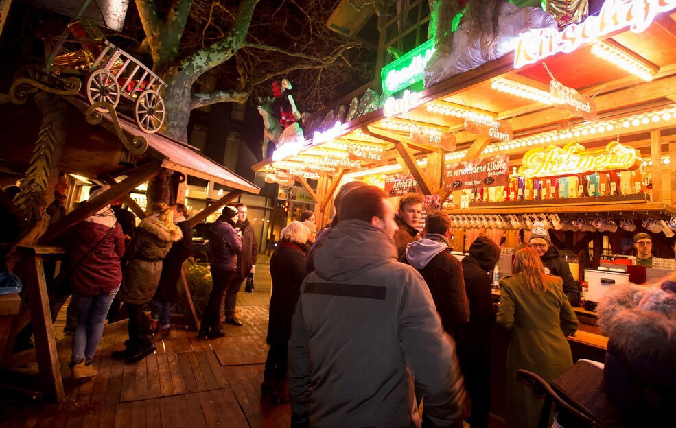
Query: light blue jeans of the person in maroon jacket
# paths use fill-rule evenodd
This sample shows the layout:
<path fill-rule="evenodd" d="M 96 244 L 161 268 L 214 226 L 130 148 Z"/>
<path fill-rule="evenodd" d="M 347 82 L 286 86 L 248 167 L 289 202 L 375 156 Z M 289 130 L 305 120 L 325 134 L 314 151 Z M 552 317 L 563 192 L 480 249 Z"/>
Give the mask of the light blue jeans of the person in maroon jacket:
<path fill-rule="evenodd" d="M 106 314 L 113 302 L 119 287 L 108 293 L 86 294 L 73 293 L 73 302 L 78 305 L 78 326 L 73 335 L 73 357 L 71 361 L 78 363 L 83 359 L 90 362 L 94 359 L 96 348 L 101 342 Z"/>

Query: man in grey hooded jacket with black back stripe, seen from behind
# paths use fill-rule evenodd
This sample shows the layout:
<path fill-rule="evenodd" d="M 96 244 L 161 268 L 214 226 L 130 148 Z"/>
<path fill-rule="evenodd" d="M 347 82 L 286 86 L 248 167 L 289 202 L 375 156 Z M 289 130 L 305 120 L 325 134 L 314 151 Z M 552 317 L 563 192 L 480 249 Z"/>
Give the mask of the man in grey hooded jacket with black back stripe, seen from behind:
<path fill-rule="evenodd" d="M 430 426 L 462 426 L 454 342 L 422 276 L 397 263 L 386 198 L 372 186 L 345 195 L 301 286 L 288 354 L 296 427 L 419 427 L 414 387 Z"/>

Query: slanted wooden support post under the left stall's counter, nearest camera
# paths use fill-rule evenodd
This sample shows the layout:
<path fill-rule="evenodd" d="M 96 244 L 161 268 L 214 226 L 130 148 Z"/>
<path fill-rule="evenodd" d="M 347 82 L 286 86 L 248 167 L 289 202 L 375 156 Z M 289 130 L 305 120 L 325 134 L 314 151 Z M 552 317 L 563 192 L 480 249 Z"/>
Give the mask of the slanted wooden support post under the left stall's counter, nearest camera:
<path fill-rule="evenodd" d="M 54 329 L 49 311 L 49 295 L 45 281 L 45 270 L 41 256 L 30 257 L 27 268 L 27 281 L 24 284 L 31 322 L 35 336 L 35 349 L 40 369 L 40 385 L 45 396 L 61 401 L 65 396 L 61 368 L 54 339 Z"/>

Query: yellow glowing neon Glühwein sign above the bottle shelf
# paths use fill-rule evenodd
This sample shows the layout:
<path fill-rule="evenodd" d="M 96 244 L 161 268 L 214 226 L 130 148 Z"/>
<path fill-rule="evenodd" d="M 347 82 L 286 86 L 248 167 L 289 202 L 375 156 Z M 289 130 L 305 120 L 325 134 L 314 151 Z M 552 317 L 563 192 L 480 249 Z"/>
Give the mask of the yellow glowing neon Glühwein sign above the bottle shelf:
<path fill-rule="evenodd" d="M 524 154 L 522 162 L 519 174 L 534 178 L 636 169 L 641 157 L 638 150 L 612 141 L 600 150 L 585 150 L 578 143 L 568 143 L 563 149 L 555 145 L 532 149 Z"/>

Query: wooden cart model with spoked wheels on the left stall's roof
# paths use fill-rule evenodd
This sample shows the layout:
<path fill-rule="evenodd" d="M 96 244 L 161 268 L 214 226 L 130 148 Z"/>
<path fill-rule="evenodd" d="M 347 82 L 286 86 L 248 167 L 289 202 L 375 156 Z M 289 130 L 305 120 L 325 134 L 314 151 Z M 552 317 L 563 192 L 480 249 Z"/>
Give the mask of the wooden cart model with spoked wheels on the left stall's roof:
<path fill-rule="evenodd" d="M 108 42 L 95 23 L 75 21 L 68 32 L 62 38 L 45 38 L 45 49 L 51 51 L 45 64 L 48 73 L 57 80 L 63 75 L 86 78 L 84 95 L 91 104 L 107 102 L 117 108 L 121 99 L 128 100 L 139 128 L 148 134 L 157 132 L 165 120 L 159 90 L 167 84 L 137 58 Z M 68 49 L 71 45 L 79 49 Z"/>

